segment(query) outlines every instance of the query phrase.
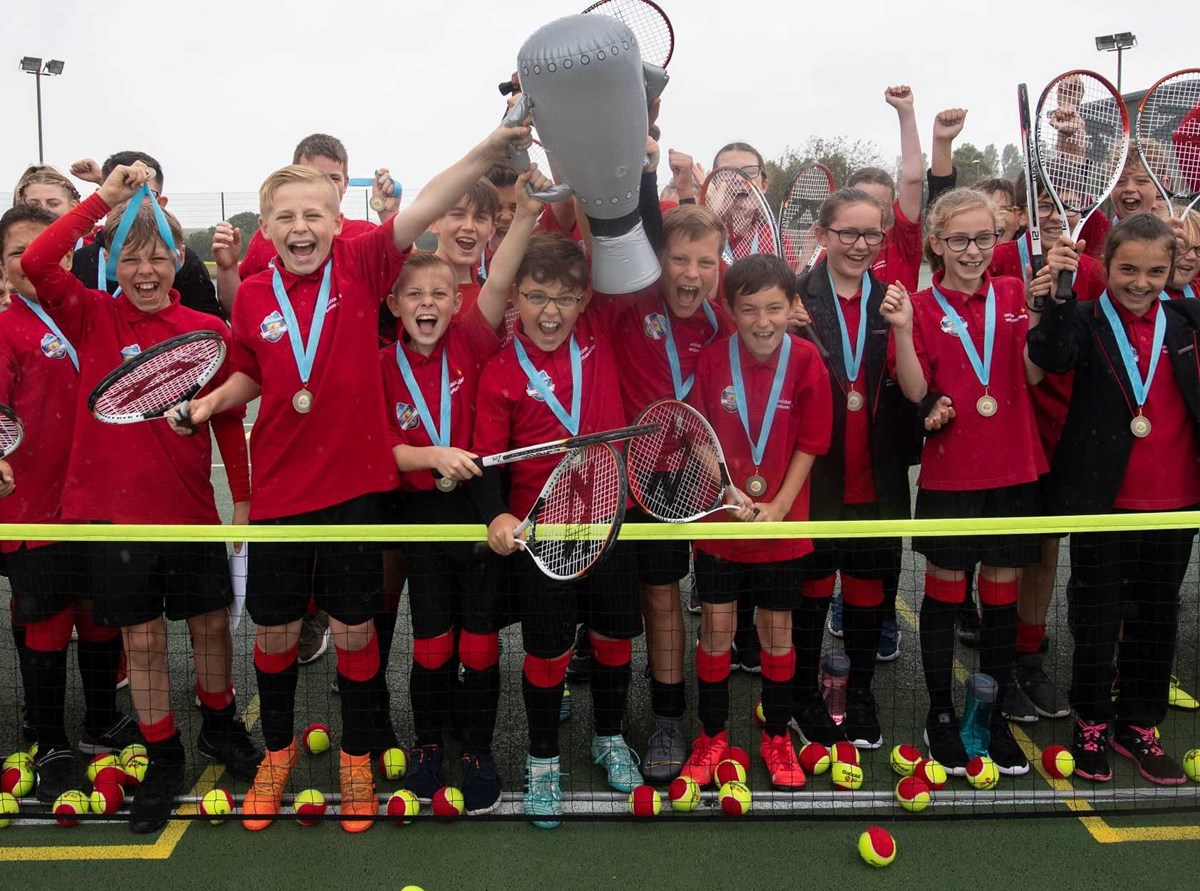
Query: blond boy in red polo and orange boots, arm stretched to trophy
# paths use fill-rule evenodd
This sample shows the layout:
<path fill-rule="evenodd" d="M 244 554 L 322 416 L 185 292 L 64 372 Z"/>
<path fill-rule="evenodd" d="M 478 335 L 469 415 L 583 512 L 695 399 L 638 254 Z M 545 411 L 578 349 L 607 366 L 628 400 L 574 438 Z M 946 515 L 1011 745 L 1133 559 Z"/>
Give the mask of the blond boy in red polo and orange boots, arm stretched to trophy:
<path fill-rule="evenodd" d="M 192 402 L 193 421 L 262 395 L 252 442 L 251 522 L 378 522 L 398 483 L 378 366 L 378 313 L 404 257 L 524 127 L 499 127 L 430 181 L 403 214 L 365 237 L 338 239 L 337 187 L 311 167 L 284 167 L 259 191 L 260 231 L 278 252 L 234 304 L 228 383 Z M 353 436 L 343 436 L 353 430 Z M 181 430 L 182 432 L 182 430 Z M 254 666 L 268 753 L 242 802 L 244 825 L 266 829 L 299 759 L 294 738 L 296 641 L 308 600 L 330 616 L 342 701 L 342 827 L 362 832 L 378 813 L 371 775 L 378 700 L 379 549 L 365 543 L 262 544 L 246 608 L 258 624 Z"/>

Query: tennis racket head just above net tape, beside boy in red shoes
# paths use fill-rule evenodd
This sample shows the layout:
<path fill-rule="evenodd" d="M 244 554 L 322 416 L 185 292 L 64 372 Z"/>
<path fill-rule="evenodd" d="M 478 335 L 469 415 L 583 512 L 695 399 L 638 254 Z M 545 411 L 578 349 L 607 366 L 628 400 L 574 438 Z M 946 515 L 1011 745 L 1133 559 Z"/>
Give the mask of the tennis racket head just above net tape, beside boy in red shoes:
<path fill-rule="evenodd" d="M 716 433 L 690 405 L 664 399 L 637 415 L 655 432 L 629 443 L 625 464 L 634 501 L 650 516 L 666 522 L 691 522 L 719 510 L 727 495 L 749 503 L 730 480 L 730 468 Z"/>

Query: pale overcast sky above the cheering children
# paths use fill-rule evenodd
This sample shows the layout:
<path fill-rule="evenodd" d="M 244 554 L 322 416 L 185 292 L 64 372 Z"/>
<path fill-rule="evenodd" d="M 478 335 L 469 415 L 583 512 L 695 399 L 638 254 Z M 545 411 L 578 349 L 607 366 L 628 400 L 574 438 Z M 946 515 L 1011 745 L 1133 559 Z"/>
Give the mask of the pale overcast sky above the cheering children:
<path fill-rule="evenodd" d="M 169 195 L 252 192 L 302 136 L 325 131 L 346 143 L 352 175 L 389 166 L 412 191 L 503 112 L 496 84 L 524 38 L 583 5 L 6 0 L 0 192 L 37 159 L 23 55 L 66 61 L 61 77 L 42 82 L 46 161 L 62 169 L 136 148 L 160 159 Z M 1027 10 L 944 0 L 661 5 L 676 32 L 664 143 L 706 166 L 732 139 L 775 157 L 814 133 L 871 139 L 890 161 L 899 151 L 882 98 L 890 83 L 914 89 L 926 151 L 932 116 L 948 106 L 970 108 L 964 140 L 1000 148 L 1016 142 L 1019 80 L 1034 102 L 1067 68 L 1115 80 L 1116 55 L 1096 50 L 1099 34 L 1138 35 L 1124 54 L 1127 92 L 1200 66 L 1195 0 L 1172 0 L 1169 16 L 1128 0 Z"/>

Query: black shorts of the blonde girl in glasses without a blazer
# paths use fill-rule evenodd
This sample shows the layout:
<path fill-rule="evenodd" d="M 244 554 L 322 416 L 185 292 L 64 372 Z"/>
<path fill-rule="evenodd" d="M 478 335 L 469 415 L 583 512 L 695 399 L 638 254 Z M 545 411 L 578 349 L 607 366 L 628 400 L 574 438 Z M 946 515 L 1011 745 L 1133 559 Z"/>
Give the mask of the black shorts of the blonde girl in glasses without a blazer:
<path fill-rule="evenodd" d="M 1037 483 L 974 491 L 917 490 L 917 519 L 983 519 L 1037 516 L 1042 497 Z M 1042 558 L 1042 536 L 913 536 L 912 549 L 942 569 L 968 573 L 976 564 L 996 568 L 1033 566 Z"/>

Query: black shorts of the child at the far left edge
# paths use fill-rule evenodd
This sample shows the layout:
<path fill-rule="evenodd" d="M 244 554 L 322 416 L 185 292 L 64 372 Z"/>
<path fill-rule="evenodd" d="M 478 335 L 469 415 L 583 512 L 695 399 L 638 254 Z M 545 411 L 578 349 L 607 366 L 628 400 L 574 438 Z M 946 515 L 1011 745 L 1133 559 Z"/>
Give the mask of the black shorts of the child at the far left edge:
<path fill-rule="evenodd" d="M 59 615 L 78 597 L 90 597 L 88 545 L 55 542 L 5 555 L 12 585 L 12 612 L 18 622 L 41 622 Z"/>

